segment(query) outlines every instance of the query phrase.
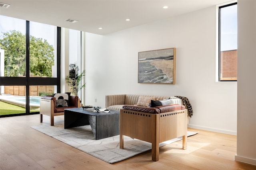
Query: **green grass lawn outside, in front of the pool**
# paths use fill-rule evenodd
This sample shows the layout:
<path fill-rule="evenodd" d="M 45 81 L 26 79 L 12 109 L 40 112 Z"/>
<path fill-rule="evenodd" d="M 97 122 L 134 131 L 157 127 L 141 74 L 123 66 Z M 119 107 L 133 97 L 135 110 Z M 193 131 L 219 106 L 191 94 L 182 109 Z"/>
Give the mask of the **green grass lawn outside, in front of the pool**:
<path fill-rule="evenodd" d="M 39 110 L 30 110 L 30 112 L 37 112 Z M 15 106 L 5 102 L 0 102 L 0 115 L 12 115 L 18 113 L 26 113 L 24 107 Z"/>

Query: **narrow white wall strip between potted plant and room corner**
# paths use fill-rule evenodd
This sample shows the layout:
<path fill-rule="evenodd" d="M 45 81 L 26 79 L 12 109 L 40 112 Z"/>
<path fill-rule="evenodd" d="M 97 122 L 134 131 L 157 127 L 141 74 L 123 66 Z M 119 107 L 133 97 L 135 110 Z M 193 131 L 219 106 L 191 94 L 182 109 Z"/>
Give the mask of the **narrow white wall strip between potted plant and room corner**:
<path fill-rule="evenodd" d="M 105 94 L 102 94 L 102 87 L 104 87 L 104 72 L 107 67 L 102 64 L 106 60 L 102 35 L 86 33 L 85 39 L 86 88 L 83 104 L 104 107 Z M 98 102 L 94 102 L 96 99 Z"/>

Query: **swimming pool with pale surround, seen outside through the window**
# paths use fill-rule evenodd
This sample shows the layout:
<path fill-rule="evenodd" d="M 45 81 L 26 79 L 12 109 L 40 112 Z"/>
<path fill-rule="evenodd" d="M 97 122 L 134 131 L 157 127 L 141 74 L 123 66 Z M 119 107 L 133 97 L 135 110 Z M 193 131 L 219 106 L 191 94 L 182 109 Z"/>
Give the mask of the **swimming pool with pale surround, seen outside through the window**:
<path fill-rule="evenodd" d="M 30 96 L 29 106 L 30 109 L 40 108 L 40 96 Z M 20 107 L 26 107 L 26 96 L 6 96 L 5 98 L 0 99 L 2 102 L 13 104 Z"/>

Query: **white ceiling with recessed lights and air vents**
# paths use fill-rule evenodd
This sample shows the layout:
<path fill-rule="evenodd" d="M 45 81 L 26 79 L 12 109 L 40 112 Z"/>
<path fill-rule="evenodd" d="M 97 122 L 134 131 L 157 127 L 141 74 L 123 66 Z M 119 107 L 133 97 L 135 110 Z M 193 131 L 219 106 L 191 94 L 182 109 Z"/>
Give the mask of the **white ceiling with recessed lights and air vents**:
<path fill-rule="evenodd" d="M 0 15 L 106 35 L 231 0 L 0 0 Z M 163 6 L 168 6 L 163 9 Z M 129 18 L 130 21 L 126 21 Z M 78 20 L 76 23 L 66 19 Z M 103 29 L 98 29 L 102 27 Z"/>

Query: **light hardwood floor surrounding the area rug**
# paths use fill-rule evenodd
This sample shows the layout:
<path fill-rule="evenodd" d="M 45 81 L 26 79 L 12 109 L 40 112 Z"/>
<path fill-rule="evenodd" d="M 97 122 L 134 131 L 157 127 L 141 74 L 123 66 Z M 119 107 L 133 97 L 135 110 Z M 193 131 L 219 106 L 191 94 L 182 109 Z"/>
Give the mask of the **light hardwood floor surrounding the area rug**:
<path fill-rule="evenodd" d="M 149 150 L 109 164 L 30 128 L 39 122 L 39 115 L 0 118 L 1 170 L 256 170 L 234 160 L 234 135 L 189 128 L 198 134 L 188 137 L 187 150 L 178 141 L 161 147 L 157 162 Z"/>

